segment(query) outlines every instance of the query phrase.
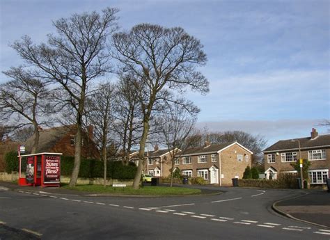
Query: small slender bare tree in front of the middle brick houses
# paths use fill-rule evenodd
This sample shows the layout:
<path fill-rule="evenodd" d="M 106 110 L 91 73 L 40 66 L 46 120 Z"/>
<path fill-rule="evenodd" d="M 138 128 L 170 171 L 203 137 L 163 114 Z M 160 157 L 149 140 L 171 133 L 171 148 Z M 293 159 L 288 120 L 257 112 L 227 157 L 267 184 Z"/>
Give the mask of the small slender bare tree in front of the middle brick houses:
<path fill-rule="evenodd" d="M 186 104 L 188 106 L 189 104 Z M 191 105 L 192 106 L 192 105 Z M 191 111 L 182 109 L 178 104 L 168 106 L 167 112 L 157 116 L 157 125 L 160 129 L 160 139 L 167 146 L 171 158 L 171 184 L 173 186 L 173 171 L 175 160 L 187 147 L 187 139 L 194 135 L 194 125 L 196 123 L 198 109 L 192 106 Z"/>

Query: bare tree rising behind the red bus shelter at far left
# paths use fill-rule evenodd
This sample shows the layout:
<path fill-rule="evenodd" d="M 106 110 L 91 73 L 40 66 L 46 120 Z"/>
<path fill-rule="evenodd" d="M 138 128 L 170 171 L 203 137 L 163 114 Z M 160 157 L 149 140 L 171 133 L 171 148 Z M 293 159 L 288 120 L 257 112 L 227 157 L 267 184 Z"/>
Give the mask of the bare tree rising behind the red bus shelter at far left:
<path fill-rule="evenodd" d="M 0 109 L 2 120 L 10 129 L 33 126 L 33 147 L 36 153 L 39 144 L 39 125 L 49 123 L 49 91 L 45 83 L 26 72 L 23 67 L 11 67 L 3 72 L 10 81 L 0 86 Z"/>

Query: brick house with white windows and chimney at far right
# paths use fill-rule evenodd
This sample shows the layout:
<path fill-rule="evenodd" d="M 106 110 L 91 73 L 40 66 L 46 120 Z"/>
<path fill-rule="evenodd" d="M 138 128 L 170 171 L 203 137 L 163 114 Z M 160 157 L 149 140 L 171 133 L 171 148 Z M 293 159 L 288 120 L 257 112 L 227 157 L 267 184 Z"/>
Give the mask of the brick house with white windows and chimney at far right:
<path fill-rule="evenodd" d="M 267 179 L 276 179 L 280 173 L 297 173 L 290 165 L 297 159 L 308 159 L 311 163 L 308 170 L 311 184 L 324 184 L 329 177 L 330 134 L 319 136 L 316 129 L 312 129 L 310 137 L 278 141 L 263 153 Z"/>

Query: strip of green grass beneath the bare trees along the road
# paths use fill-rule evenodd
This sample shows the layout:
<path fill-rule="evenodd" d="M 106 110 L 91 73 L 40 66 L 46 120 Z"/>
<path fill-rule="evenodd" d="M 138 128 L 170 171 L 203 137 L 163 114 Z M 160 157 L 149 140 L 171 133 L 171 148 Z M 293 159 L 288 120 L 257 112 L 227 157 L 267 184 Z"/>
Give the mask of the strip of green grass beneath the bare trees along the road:
<path fill-rule="evenodd" d="M 86 191 L 93 193 L 109 193 L 123 195 L 191 195 L 201 193 L 200 189 L 188 189 L 184 187 L 169 187 L 169 186 L 144 186 L 140 189 L 133 189 L 132 186 L 113 187 L 102 185 L 77 185 L 70 187 L 62 186 L 64 189 L 72 189 L 77 191 Z"/>

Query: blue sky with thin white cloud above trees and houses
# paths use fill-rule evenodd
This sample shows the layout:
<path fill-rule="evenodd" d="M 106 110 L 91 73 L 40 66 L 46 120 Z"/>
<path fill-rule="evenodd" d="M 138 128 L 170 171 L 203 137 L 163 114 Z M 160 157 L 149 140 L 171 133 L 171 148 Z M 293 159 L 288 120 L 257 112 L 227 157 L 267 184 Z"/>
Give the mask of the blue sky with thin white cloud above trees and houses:
<path fill-rule="evenodd" d="M 140 23 L 181 26 L 201 40 L 198 68 L 210 93 L 187 93 L 197 126 L 264 136 L 268 145 L 310 136 L 330 119 L 330 1 L 322 0 L 1 0 L 0 71 L 24 62 L 8 47 L 23 35 L 36 43 L 55 33 L 52 20 L 118 8 L 120 30 Z M 0 83 L 8 81 L 0 74 Z"/>

